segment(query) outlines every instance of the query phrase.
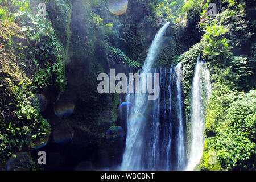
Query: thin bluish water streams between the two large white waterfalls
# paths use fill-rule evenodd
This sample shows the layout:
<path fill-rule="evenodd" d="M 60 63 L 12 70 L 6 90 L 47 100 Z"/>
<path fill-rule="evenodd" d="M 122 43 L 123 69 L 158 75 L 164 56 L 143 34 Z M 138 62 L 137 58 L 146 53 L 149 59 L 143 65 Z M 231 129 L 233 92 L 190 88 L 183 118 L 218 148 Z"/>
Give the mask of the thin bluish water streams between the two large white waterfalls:
<path fill-rule="evenodd" d="M 176 92 L 174 92 L 175 90 Z M 152 104 L 150 119 L 152 123 L 150 134 L 148 134 L 150 137 L 147 140 L 146 157 L 144 158 L 144 160 L 148 160 L 146 169 L 183 170 L 186 157 L 181 63 L 175 69 L 171 65 L 168 84 L 166 68 L 160 68 L 159 93 L 160 97 Z M 172 104 L 172 97 L 176 98 L 175 105 Z M 167 101 L 170 103 L 168 109 Z M 173 107 L 176 109 L 175 113 L 172 113 Z M 176 127 L 173 127 L 172 115 L 177 116 Z M 176 135 L 176 142 L 172 147 L 173 135 Z M 176 153 L 176 157 L 172 155 L 174 154 L 172 152 Z M 177 167 L 172 166 L 172 162 L 178 164 Z"/>

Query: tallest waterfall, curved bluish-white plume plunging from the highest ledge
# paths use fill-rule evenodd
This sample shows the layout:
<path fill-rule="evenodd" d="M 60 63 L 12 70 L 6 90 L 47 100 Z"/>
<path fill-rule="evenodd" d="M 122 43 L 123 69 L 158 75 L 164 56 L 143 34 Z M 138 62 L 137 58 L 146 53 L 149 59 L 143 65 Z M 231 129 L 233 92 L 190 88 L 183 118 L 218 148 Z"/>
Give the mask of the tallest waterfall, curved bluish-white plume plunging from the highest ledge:
<path fill-rule="evenodd" d="M 142 73 L 150 73 L 152 65 L 158 56 L 161 39 L 170 23 L 164 24 L 158 31 L 148 50 L 147 58 L 142 67 Z M 144 119 L 144 111 L 147 106 L 146 94 L 137 94 L 131 115 L 127 121 L 126 148 L 121 164 L 122 170 L 139 170 L 142 166 L 142 151 L 144 146 L 144 128 L 141 122 Z"/>

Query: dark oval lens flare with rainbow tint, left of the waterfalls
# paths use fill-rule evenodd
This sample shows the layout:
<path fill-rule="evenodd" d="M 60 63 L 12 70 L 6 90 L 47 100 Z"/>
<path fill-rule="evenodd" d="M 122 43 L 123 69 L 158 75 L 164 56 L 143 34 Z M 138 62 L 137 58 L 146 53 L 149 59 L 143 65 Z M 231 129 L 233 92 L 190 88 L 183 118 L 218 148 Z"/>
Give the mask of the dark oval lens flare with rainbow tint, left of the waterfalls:
<path fill-rule="evenodd" d="M 54 107 L 57 117 L 67 117 L 74 111 L 75 104 L 72 101 L 59 101 Z"/>

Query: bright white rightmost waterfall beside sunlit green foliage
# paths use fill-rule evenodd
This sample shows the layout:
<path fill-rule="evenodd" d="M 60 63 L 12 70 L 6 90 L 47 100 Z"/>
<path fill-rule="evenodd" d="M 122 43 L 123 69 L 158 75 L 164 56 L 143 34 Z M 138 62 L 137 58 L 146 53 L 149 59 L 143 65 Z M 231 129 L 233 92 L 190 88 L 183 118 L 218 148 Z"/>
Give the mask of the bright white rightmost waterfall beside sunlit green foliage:
<path fill-rule="evenodd" d="M 200 162 L 204 148 L 204 129 L 205 129 L 205 108 L 203 94 L 206 101 L 210 98 L 210 74 L 205 68 L 200 55 L 197 58 L 195 73 L 192 81 L 192 100 L 191 100 L 191 154 L 189 155 L 187 170 L 193 170 Z"/>

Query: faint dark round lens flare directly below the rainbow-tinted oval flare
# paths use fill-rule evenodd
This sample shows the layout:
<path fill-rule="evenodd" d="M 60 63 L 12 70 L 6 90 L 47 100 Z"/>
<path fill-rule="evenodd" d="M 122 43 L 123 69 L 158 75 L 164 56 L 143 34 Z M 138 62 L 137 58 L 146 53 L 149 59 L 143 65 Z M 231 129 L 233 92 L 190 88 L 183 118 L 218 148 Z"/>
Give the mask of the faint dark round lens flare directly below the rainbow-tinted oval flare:
<path fill-rule="evenodd" d="M 71 126 L 59 126 L 53 131 L 53 139 L 57 144 L 67 144 L 72 141 L 74 130 Z"/>

